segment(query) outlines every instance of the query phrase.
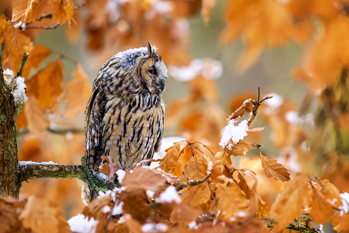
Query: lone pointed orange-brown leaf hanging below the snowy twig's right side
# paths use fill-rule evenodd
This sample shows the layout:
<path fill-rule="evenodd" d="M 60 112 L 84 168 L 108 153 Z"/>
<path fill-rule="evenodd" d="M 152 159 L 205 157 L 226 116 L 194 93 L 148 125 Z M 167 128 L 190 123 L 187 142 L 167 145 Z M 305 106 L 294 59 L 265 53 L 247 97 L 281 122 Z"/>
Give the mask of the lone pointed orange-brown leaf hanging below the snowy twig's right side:
<path fill-rule="evenodd" d="M 290 180 L 290 173 L 288 173 L 288 169 L 285 168 L 285 165 L 281 163 L 277 163 L 276 159 L 269 159 L 266 156 L 263 156 L 261 152 L 259 152 L 259 157 L 262 160 L 262 167 L 265 170 L 265 174 L 269 178 L 274 177 L 275 180 L 281 180 L 282 182 Z"/>

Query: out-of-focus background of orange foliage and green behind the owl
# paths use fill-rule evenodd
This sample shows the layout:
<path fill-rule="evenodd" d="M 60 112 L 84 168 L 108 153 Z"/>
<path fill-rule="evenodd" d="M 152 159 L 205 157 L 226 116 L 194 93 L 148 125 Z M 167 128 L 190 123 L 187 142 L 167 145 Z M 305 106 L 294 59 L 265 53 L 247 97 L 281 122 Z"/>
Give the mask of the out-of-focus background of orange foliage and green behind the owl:
<path fill-rule="evenodd" d="M 84 99 L 80 96 L 74 110 L 76 97 L 71 92 L 79 85 L 69 83 L 76 79 L 72 75 L 76 62 L 91 86 L 99 68 L 114 54 L 149 41 L 170 74 L 163 95 L 162 155 L 179 139 L 168 137 L 221 149 L 225 119 L 244 100 L 256 100 L 260 86 L 261 98 L 274 97 L 261 106 L 250 128 L 266 128 L 248 133 L 244 140 L 263 145 L 262 154 L 285 164 L 292 176 L 311 173 L 348 190 L 347 1 L 75 0 L 73 4 L 72 18 L 50 30 L 42 28 L 56 25 L 50 18 L 23 28 L 24 16 L 16 17 L 14 9 L 12 21 L 21 22 L 19 28 L 25 29 L 34 48 L 43 44 L 51 51 L 39 66 L 29 68 L 24 77 L 27 86 L 55 59 L 63 71 L 63 80 L 55 84 L 61 91 L 52 94 L 52 103 L 40 117 L 23 110 L 17 119 L 20 160 L 79 164 L 90 87 L 78 88 Z M 4 67 L 15 70 L 15 62 L 7 56 Z M 34 92 L 29 100 L 30 96 L 40 104 L 45 98 Z M 237 168 L 257 173 L 260 196 L 271 205 L 283 183 L 266 177 L 257 149 L 232 160 Z M 21 198 L 35 194 L 58 202 L 67 219 L 82 210 L 81 181 L 29 183 L 23 184 Z"/>

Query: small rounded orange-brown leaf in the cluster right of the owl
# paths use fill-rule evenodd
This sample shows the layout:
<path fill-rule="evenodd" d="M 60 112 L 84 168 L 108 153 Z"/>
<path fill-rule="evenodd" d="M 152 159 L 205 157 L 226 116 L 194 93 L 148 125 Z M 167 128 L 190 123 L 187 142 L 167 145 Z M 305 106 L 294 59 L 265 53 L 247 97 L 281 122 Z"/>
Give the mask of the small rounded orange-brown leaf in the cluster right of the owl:
<path fill-rule="evenodd" d="M 184 169 L 187 170 L 185 175 L 188 180 L 201 180 L 207 176 L 207 164 L 196 156 L 187 161 Z"/>

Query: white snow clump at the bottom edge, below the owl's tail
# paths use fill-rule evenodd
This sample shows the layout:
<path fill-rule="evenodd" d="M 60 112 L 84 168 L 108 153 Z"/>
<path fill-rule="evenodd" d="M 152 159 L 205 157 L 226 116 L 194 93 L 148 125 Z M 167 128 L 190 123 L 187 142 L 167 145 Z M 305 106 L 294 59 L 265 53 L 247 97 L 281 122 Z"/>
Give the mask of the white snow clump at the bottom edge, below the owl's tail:
<path fill-rule="evenodd" d="M 77 233 L 90 233 L 96 231 L 96 221 L 93 217 L 88 219 L 83 214 L 77 214 L 74 217 L 71 217 L 67 223 L 69 224 L 70 230 Z"/>

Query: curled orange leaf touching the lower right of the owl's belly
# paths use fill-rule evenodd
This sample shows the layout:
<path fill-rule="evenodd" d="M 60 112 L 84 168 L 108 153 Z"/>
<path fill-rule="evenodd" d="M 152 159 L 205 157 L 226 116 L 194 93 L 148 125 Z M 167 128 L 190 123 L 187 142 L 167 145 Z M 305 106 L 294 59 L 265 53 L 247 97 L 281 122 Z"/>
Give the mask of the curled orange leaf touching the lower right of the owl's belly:
<path fill-rule="evenodd" d="M 166 149 L 166 154 L 164 158 L 160 160 L 159 166 L 157 168 L 160 168 L 165 172 L 172 173 L 172 171 L 178 167 L 178 157 L 183 150 L 183 148 L 181 147 L 184 145 L 184 141 L 179 141 L 177 143 L 174 143 L 170 148 Z"/>

